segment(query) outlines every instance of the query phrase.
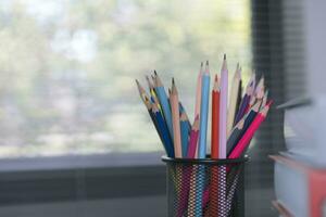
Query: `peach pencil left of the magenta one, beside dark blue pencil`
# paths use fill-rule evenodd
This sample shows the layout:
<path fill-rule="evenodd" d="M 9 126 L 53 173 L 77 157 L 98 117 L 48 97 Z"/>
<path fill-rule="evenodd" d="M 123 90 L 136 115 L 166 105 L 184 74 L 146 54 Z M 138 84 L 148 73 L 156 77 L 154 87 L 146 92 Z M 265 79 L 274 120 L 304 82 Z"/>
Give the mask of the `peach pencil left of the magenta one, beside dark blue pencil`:
<path fill-rule="evenodd" d="M 173 119 L 173 138 L 175 157 L 183 157 L 181 151 L 181 135 L 180 135 L 180 118 L 179 118 L 179 99 L 175 87 L 174 78 L 172 78 L 172 89 L 170 95 L 172 119 Z"/>

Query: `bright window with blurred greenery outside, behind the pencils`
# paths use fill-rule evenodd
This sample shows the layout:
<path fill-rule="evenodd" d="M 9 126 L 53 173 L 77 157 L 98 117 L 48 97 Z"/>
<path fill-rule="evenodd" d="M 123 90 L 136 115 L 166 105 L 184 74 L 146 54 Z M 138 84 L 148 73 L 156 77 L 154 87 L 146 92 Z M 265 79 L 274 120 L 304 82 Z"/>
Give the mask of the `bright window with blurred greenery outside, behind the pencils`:
<path fill-rule="evenodd" d="M 192 119 L 200 61 L 251 71 L 250 2 L 0 2 L 0 158 L 162 150 L 134 79 L 174 75 Z"/>

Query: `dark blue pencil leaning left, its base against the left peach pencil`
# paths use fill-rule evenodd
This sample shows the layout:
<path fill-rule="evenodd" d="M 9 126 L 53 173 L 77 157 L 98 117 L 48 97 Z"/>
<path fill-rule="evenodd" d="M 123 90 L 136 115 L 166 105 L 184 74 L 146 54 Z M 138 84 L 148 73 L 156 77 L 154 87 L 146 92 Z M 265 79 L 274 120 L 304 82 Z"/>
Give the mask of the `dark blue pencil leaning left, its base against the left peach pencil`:
<path fill-rule="evenodd" d="M 152 105 L 151 112 L 153 113 L 154 119 L 158 124 L 158 130 L 159 130 L 159 133 L 161 135 L 161 138 L 163 140 L 163 145 L 164 145 L 165 152 L 166 152 L 168 157 L 174 157 L 173 142 L 172 142 L 172 139 L 170 137 L 168 129 L 167 129 L 167 126 L 164 122 L 162 113 L 160 112 L 156 104 Z"/>

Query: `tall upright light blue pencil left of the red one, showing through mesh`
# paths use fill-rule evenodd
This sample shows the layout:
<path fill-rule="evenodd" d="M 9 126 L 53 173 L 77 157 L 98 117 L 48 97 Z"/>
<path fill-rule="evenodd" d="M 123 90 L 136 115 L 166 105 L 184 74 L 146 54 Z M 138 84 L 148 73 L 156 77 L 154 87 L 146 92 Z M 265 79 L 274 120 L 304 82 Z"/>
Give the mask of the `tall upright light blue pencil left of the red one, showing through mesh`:
<path fill-rule="evenodd" d="M 209 61 L 206 61 L 206 68 L 202 75 L 201 80 L 201 104 L 200 104 L 200 124 L 199 124 L 199 143 L 198 143 L 198 158 L 205 158 L 206 155 L 206 131 L 208 131 L 208 116 L 210 102 L 210 69 Z M 202 195 L 204 190 L 204 166 L 199 165 L 197 174 L 196 193 L 196 216 L 202 216 Z"/>

